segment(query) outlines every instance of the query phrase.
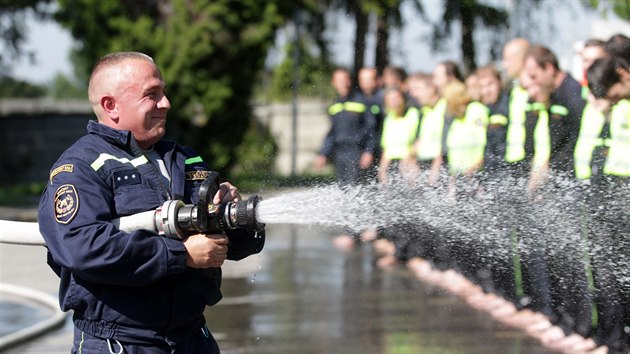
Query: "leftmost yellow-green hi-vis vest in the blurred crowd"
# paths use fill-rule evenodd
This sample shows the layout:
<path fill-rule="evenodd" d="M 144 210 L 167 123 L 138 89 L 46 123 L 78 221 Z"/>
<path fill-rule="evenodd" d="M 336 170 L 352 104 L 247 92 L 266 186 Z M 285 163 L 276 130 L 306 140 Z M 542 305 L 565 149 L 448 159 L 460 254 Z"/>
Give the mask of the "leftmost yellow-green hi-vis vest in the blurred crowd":
<path fill-rule="evenodd" d="M 383 122 L 381 147 L 383 156 L 390 160 L 402 160 L 410 156 L 411 147 L 416 140 L 420 122 L 420 112 L 415 107 L 407 109 L 404 117 L 388 112 Z"/>

